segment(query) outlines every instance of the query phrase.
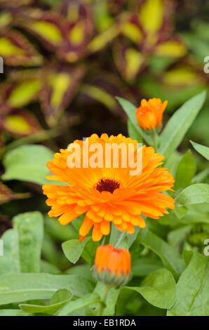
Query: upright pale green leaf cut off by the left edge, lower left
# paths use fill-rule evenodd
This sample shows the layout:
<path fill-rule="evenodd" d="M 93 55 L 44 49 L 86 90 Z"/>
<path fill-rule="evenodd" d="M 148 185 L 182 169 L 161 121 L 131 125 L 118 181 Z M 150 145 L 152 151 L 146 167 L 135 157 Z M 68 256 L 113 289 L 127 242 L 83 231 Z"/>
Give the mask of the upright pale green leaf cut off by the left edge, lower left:
<path fill-rule="evenodd" d="M 20 272 L 20 256 L 18 232 L 9 229 L 1 237 L 4 246 L 4 256 L 0 256 L 0 275 L 10 272 Z"/>

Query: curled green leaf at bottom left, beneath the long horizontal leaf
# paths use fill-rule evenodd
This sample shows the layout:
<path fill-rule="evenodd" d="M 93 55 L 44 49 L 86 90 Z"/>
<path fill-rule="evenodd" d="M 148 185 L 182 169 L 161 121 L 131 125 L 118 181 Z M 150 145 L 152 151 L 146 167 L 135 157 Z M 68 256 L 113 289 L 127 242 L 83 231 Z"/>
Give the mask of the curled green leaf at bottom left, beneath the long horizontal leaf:
<path fill-rule="evenodd" d="M 20 308 L 29 313 L 42 313 L 53 315 L 65 303 L 72 299 L 72 293 L 67 289 L 60 289 L 50 298 L 48 305 L 20 304 Z"/>

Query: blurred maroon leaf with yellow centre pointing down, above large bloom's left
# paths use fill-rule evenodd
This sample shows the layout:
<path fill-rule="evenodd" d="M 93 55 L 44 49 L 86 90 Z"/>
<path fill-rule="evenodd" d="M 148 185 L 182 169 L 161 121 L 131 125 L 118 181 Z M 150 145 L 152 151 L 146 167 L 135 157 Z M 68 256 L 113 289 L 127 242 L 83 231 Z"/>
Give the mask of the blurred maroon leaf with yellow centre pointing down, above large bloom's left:
<path fill-rule="evenodd" d="M 83 76 L 83 69 L 68 66 L 49 67 L 43 72 L 44 87 L 41 90 L 41 105 L 50 126 L 57 124 L 65 107 L 74 97 Z"/>

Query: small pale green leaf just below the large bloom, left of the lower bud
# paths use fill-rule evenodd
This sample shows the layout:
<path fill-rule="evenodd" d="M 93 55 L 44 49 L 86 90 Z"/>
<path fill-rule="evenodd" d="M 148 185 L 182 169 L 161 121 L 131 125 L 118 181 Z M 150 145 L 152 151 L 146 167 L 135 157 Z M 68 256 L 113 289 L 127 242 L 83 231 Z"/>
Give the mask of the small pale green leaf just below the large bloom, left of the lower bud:
<path fill-rule="evenodd" d="M 71 263 L 76 263 L 79 260 L 89 240 L 90 237 L 86 237 L 83 242 L 79 242 L 79 239 L 69 239 L 69 241 L 62 243 L 62 250 Z"/>

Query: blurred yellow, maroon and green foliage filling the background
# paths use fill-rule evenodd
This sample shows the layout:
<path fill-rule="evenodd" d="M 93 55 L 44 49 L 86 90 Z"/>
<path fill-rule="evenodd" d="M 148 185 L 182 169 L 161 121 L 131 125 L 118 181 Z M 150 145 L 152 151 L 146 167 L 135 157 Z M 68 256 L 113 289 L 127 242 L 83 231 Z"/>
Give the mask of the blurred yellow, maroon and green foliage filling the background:
<path fill-rule="evenodd" d="M 135 105 L 142 98 L 168 100 L 166 123 L 184 101 L 208 90 L 209 74 L 203 71 L 209 55 L 208 15 L 209 4 L 203 0 L 0 0 L 0 56 L 4 58 L 0 156 L 26 143 L 58 150 L 94 132 L 127 135 L 126 116 L 115 96 Z M 208 121 L 207 100 L 180 152 L 191 147 L 189 139 L 208 145 Z M 208 180 L 207 163 L 193 154 L 187 156 L 196 158 L 196 173 Z M 43 163 L 52 155 L 43 151 Z M 15 157 L 18 166 L 20 157 Z M 34 166 L 36 152 L 25 150 L 25 157 Z M 39 182 L 25 181 L 0 183 L 1 233 L 20 212 L 47 211 Z M 196 182 L 201 180 L 196 177 Z M 174 223 L 178 225 L 176 219 Z M 182 240 L 198 246 L 205 228 L 195 226 L 186 227 L 181 237 L 174 226 L 168 241 L 174 246 Z M 66 270 L 69 261 L 58 246 L 76 237 L 76 232 L 47 217 L 45 227 L 42 253 L 55 267 L 47 271 Z M 167 233 L 164 223 L 160 235 Z"/>

